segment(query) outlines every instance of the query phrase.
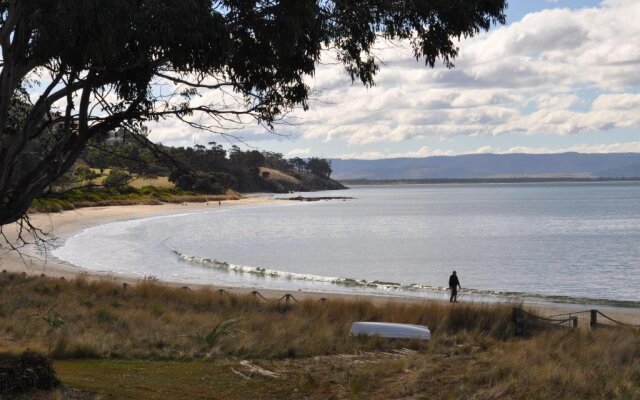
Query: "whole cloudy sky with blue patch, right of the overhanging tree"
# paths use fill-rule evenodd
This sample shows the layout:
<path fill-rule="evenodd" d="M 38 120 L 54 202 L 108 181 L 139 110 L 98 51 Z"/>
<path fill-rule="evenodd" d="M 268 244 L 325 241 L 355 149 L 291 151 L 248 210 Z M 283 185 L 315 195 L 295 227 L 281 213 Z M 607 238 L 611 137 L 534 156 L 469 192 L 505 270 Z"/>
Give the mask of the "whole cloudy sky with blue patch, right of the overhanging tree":
<path fill-rule="evenodd" d="M 235 134 L 301 157 L 640 152 L 640 1 L 509 3 L 507 25 L 463 40 L 453 70 L 387 46 L 375 87 L 320 66 L 295 125 Z M 165 144 L 226 143 L 177 123 L 151 129 Z"/>

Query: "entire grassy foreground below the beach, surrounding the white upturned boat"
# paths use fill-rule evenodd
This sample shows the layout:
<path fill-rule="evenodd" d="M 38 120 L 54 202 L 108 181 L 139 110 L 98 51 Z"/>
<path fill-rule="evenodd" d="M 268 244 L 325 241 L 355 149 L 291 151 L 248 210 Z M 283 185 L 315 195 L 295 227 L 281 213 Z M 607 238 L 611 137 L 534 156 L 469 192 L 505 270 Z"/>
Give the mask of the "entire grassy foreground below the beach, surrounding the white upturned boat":
<path fill-rule="evenodd" d="M 428 325 L 434 340 L 349 337 L 363 320 Z M 510 305 L 286 304 L 0 274 L 0 351 L 54 359 L 54 398 L 640 398 L 637 330 L 521 339 L 510 321 Z"/>

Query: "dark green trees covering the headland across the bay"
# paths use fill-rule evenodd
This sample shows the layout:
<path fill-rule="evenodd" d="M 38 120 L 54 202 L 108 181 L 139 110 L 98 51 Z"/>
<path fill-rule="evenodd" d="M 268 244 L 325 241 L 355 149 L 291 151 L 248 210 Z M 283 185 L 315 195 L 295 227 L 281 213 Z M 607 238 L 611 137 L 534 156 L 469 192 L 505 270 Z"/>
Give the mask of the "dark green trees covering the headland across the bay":
<path fill-rule="evenodd" d="M 110 144 L 104 138 L 94 141 L 81 159 L 101 171 L 109 168 L 140 176 L 168 176 L 177 187 L 202 193 L 223 193 L 227 189 L 273 191 L 269 172 L 261 172 L 263 167 L 296 177 L 312 174 L 323 179 L 330 179 L 332 172 L 331 162 L 317 157 L 286 159 L 281 153 L 242 150 L 238 146 L 226 150 L 216 142 L 193 147 L 157 145 L 150 149 L 133 136 Z M 117 181 L 122 182 L 122 178 Z"/>

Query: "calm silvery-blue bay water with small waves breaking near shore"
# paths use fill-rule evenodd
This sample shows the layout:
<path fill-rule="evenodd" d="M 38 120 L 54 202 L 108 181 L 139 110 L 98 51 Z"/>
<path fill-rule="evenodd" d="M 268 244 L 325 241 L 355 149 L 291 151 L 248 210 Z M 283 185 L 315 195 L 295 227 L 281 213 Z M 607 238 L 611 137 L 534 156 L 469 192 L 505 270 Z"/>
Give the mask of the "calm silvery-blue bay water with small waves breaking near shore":
<path fill-rule="evenodd" d="M 349 201 L 105 224 L 54 255 L 114 274 L 286 290 L 640 302 L 640 185 L 359 186 Z M 638 303 L 635 305 L 637 306 Z"/>

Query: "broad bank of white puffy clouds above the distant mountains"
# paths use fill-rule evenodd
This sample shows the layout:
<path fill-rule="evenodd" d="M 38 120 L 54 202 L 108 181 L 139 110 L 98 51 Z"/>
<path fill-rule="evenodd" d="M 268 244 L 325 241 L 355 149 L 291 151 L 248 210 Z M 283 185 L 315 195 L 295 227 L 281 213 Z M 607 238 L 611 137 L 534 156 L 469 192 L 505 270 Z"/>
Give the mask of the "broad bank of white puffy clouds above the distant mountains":
<path fill-rule="evenodd" d="M 634 19 L 633 16 L 638 18 Z M 338 66 L 314 80 L 305 137 L 351 147 L 451 135 L 576 134 L 640 125 L 640 2 L 552 9 L 461 42 L 457 69 L 429 70 L 383 51 L 377 86 L 349 86 Z M 342 85 L 340 84 L 342 83 Z M 582 90 L 595 91 L 595 100 Z M 629 91 L 629 92 L 627 92 Z"/>

